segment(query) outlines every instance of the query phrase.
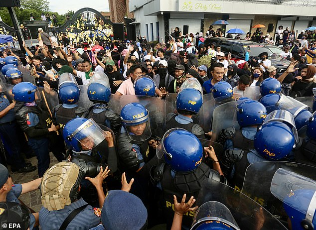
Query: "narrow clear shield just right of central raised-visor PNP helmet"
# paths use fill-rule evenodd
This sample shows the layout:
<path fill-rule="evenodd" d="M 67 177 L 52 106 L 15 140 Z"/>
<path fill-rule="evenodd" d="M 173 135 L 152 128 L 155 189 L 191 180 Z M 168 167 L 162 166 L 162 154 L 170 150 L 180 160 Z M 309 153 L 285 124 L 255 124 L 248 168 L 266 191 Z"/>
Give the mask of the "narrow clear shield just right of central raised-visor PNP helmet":
<path fill-rule="evenodd" d="M 215 109 L 215 100 L 212 95 L 203 97 L 203 104 L 199 111 L 199 124 L 205 132 L 211 130 L 212 118 Z"/>

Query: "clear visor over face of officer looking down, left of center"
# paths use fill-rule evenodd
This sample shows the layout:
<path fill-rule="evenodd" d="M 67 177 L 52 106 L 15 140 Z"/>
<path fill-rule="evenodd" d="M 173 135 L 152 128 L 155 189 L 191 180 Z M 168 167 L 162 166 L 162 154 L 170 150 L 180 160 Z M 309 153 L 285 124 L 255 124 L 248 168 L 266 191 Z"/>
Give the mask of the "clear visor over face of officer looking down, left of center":
<path fill-rule="evenodd" d="M 106 137 L 105 132 L 92 119 L 80 125 L 68 138 L 75 138 L 83 150 L 91 150 L 100 144 Z"/>

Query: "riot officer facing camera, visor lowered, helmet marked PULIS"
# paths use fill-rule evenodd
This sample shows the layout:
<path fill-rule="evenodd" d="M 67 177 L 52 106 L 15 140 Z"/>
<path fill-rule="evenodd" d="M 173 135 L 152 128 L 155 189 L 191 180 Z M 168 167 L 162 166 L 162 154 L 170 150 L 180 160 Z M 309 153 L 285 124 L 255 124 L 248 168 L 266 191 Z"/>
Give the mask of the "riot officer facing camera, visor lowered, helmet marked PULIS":
<path fill-rule="evenodd" d="M 158 162 L 157 156 L 151 155 L 149 147 L 156 148 L 158 141 L 150 139 L 149 112 L 141 104 L 127 104 L 121 110 L 121 117 L 123 126 L 117 143 L 122 170 L 126 172 L 127 179 L 135 179 L 131 193 L 146 203 L 149 172 Z"/>

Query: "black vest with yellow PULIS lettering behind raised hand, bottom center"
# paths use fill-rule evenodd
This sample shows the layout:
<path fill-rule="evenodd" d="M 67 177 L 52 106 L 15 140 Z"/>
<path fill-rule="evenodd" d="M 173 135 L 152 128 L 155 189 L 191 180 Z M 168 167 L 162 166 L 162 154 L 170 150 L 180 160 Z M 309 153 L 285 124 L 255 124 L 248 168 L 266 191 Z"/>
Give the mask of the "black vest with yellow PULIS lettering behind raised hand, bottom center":
<path fill-rule="evenodd" d="M 174 215 L 173 195 L 180 201 L 184 193 L 186 193 L 187 202 L 191 196 L 198 196 L 203 180 L 209 178 L 211 173 L 210 167 L 205 163 L 201 163 L 194 171 L 180 173 L 176 172 L 175 177 L 171 176 L 171 167 L 165 165 L 163 169 L 162 179 L 160 181 L 163 193 L 164 214 L 166 216 L 167 229 L 172 225 Z M 195 212 L 188 212 L 183 215 L 182 229 L 190 229 Z"/>

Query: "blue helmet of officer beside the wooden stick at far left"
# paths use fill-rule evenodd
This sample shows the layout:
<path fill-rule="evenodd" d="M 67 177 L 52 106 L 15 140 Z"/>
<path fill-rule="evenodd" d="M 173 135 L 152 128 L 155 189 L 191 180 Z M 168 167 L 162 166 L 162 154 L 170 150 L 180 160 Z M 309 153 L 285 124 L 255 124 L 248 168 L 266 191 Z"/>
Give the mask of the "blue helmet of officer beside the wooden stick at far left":
<path fill-rule="evenodd" d="M 37 87 L 30 82 L 21 82 L 13 86 L 12 94 L 17 102 L 34 102 L 40 95 Z M 35 95 L 37 94 L 37 97 Z"/>

